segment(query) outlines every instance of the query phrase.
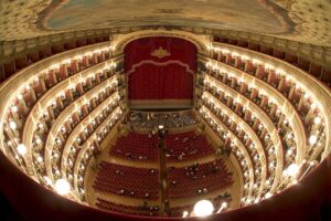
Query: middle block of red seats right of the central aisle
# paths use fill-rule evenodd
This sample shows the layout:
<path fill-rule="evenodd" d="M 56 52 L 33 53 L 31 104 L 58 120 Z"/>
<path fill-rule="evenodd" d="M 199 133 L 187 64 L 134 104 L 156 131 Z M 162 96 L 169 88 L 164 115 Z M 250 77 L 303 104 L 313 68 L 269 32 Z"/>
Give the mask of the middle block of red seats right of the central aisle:
<path fill-rule="evenodd" d="M 171 199 L 203 196 L 222 190 L 233 183 L 233 172 L 222 159 L 189 167 L 169 167 L 168 183 Z"/>

